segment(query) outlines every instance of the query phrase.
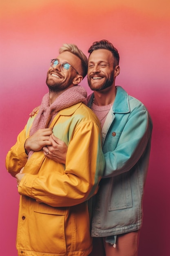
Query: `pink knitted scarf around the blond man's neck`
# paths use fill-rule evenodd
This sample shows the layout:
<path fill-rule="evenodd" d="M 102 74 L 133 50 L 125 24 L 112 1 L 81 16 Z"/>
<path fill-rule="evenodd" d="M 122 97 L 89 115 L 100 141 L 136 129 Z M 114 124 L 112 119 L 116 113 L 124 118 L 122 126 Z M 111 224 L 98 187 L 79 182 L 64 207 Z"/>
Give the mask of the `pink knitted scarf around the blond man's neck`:
<path fill-rule="evenodd" d="M 87 104 L 86 97 L 86 90 L 82 86 L 76 85 L 62 92 L 62 94 L 60 94 L 60 96 L 49 106 L 49 93 L 45 94 L 42 98 L 40 110 L 33 121 L 29 135 L 33 135 L 38 129 L 48 128 L 51 121 L 60 110 L 73 106 L 79 102 Z M 33 151 L 30 151 L 29 157 L 32 153 Z"/>

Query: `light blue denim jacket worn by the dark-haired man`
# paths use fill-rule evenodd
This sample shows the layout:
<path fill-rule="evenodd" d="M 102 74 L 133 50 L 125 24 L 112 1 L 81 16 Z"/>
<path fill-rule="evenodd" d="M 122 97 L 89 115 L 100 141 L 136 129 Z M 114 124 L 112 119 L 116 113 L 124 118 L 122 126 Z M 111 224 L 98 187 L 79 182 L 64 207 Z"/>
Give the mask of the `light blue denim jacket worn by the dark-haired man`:
<path fill-rule="evenodd" d="M 93 93 L 88 96 L 89 107 L 93 96 Z M 102 128 L 106 167 L 95 198 L 93 237 L 141 228 L 151 133 L 152 120 L 146 107 L 117 86 L 113 108 Z"/>

